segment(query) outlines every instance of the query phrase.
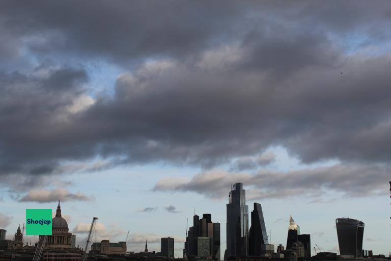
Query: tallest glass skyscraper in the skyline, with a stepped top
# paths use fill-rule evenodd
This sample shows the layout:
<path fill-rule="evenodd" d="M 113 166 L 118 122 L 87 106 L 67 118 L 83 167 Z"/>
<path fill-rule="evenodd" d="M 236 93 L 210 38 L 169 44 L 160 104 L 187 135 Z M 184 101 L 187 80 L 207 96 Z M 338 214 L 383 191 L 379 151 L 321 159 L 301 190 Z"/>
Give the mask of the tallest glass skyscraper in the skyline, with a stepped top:
<path fill-rule="evenodd" d="M 248 206 L 243 184 L 236 183 L 229 193 L 227 204 L 226 257 L 246 256 L 248 253 Z"/>

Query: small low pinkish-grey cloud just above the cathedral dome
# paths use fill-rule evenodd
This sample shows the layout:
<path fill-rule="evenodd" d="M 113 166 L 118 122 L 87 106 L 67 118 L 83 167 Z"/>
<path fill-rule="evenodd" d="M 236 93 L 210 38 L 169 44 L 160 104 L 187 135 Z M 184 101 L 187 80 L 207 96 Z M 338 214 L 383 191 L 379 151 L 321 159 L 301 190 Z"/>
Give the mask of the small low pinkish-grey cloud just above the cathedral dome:
<path fill-rule="evenodd" d="M 61 201 L 90 201 L 93 200 L 93 196 L 87 196 L 83 193 L 71 193 L 66 189 L 53 189 L 53 190 L 32 190 L 23 197 L 21 197 L 19 202 L 55 202 L 57 200 Z"/>

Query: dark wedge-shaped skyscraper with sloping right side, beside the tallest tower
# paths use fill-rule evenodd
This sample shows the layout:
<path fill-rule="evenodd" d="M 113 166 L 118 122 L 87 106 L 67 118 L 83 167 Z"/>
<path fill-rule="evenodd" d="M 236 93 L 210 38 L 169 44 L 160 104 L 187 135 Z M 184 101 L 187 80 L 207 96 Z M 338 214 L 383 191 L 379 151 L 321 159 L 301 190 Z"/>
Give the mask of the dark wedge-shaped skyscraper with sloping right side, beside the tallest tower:
<path fill-rule="evenodd" d="M 248 254 L 259 256 L 262 245 L 269 244 L 263 218 L 262 206 L 254 203 L 254 211 L 251 212 L 251 227 L 248 236 Z"/>

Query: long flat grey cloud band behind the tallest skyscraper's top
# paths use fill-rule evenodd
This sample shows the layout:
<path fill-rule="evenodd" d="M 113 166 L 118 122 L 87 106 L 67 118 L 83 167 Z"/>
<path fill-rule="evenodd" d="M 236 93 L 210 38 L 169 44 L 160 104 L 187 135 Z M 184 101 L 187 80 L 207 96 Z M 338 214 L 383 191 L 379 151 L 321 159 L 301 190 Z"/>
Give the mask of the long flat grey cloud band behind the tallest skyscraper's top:
<path fill-rule="evenodd" d="M 319 197 L 326 190 L 346 197 L 362 197 L 383 194 L 390 170 L 387 165 L 338 164 L 290 172 L 263 170 L 254 175 L 210 171 L 197 174 L 190 180 L 162 179 L 153 190 L 195 192 L 224 198 L 231 184 L 242 182 L 248 199 L 287 198 L 292 195 Z"/>

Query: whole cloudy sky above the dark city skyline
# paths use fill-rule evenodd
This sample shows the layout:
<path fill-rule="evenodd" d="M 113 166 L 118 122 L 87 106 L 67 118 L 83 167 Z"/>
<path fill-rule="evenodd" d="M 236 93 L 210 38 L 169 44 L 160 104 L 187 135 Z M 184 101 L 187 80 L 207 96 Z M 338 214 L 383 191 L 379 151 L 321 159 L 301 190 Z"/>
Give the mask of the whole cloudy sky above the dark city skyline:
<path fill-rule="evenodd" d="M 193 208 L 221 223 L 241 181 L 271 242 L 291 214 L 391 240 L 389 1 L 0 2 L 0 227 L 62 210 L 78 244 L 181 256 Z M 27 241 L 34 243 L 34 237 Z"/>

